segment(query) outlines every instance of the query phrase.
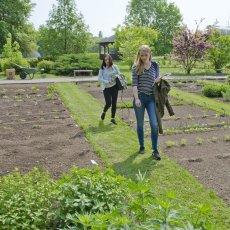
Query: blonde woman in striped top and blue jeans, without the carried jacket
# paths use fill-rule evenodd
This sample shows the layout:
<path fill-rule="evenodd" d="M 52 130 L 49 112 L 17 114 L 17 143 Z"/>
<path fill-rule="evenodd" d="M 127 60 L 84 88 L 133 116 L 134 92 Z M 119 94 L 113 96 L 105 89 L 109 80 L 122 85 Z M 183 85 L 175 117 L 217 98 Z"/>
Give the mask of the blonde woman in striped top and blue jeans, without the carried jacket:
<path fill-rule="evenodd" d="M 160 81 L 159 65 L 152 61 L 150 47 L 147 45 L 140 46 L 132 67 L 133 108 L 137 120 L 137 136 L 140 145 L 139 153 L 145 153 L 144 115 L 146 110 L 151 127 L 152 155 L 156 160 L 161 160 L 161 157 L 157 149 L 158 121 L 153 97 L 153 85 Z"/>

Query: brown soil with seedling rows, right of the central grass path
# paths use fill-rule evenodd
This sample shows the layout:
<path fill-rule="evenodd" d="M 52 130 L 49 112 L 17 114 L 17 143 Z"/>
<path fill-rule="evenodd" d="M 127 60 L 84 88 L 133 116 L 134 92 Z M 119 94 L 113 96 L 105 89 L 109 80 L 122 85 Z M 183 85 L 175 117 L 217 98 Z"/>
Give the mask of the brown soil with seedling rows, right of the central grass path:
<path fill-rule="evenodd" d="M 96 84 L 81 84 L 81 87 L 104 103 L 103 94 Z M 183 90 L 201 93 L 201 87 L 191 83 L 184 85 Z M 118 102 L 125 104 L 130 101 L 132 101 L 130 87 L 123 94 L 119 92 Z M 170 98 L 170 102 L 178 105 L 173 106 L 175 112 L 173 117 L 169 117 L 167 110 L 165 111 L 164 134 L 159 137 L 160 151 L 230 204 L 229 116 L 193 104 L 183 104 L 173 98 Z M 136 128 L 132 108 L 118 109 L 117 114 L 131 128 Z M 145 133 L 150 140 L 147 116 Z"/>

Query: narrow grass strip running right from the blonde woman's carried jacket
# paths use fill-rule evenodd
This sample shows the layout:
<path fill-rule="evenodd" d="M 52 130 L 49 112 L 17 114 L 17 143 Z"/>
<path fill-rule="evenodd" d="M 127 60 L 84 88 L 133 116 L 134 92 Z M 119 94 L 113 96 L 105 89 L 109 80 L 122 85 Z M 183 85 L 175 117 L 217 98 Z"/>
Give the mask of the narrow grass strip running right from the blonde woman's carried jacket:
<path fill-rule="evenodd" d="M 188 93 L 176 88 L 172 88 L 169 92 L 169 95 L 177 99 L 192 103 L 194 105 L 199 105 L 201 107 L 230 116 L 229 104 L 218 101 L 216 99 L 200 96 L 194 93 Z"/>

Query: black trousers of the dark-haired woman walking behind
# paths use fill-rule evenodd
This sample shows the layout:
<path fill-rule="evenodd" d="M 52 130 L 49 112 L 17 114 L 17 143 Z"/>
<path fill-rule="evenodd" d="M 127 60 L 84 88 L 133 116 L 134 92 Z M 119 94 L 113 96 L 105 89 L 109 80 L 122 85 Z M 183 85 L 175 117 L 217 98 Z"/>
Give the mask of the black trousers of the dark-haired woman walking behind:
<path fill-rule="evenodd" d="M 116 85 L 110 88 L 105 88 L 103 90 L 104 98 L 105 98 L 105 107 L 104 112 L 106 113 L 107 110 L 111 108 L 111 118 L 115 118 L 115 113 L 117 109 L 117 96 L 118 96 L 118 88 Z"/>

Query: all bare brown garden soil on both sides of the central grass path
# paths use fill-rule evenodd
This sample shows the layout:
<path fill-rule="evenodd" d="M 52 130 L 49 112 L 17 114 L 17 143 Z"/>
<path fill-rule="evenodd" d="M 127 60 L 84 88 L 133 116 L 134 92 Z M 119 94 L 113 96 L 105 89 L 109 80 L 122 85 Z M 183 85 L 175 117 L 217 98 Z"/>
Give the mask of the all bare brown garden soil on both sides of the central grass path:
<path fill-rule="evenodd" d="M 48 99 L 47 86 L 0 86 L 0 175 L 15 167 L 27 172 L 34 166 L 43 166 L 53 177 L 59 177 L 73 165 L 79 168 L 94 166 L 92 160 L 103 168 L 102 161 L 58 95 Z M 33 94 L 31 87 L 39 88 L 39 92 Z M 82 83 L 81 87 L 104 103 L 103 94 L 95 83 Z M 192 88 L 200 93 L 199 86 Z M 131 88 L 123 92 L 122 100 L 119 93 L 118 100 L 130 102 Z M 175 101 L 170 99 L 172 103 Z M 229 117 L 192 104 L 173 106 L 173 109 L 174 117 L 169 117 L 165 111 L 165 132 L 159 137 L 160 151 L 230 204 L 230 142 L 225 140 L 230 136 Z M 117 114 L 135 129 L 133 109 L 118 109 Z M 150 139 L 147 117 L 145 124 L 146 137 Z M 192 125 L 202 129 L 191 129 Z M 172 128 L 180 133 L 169 132 Z"/>

